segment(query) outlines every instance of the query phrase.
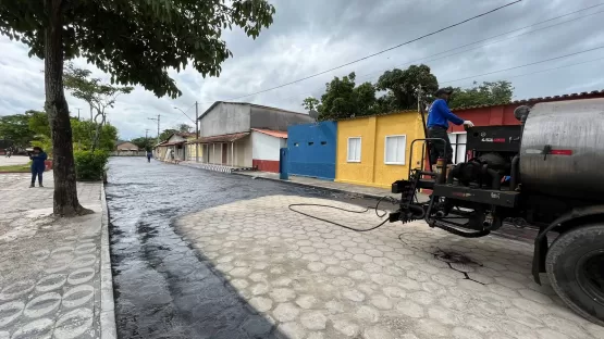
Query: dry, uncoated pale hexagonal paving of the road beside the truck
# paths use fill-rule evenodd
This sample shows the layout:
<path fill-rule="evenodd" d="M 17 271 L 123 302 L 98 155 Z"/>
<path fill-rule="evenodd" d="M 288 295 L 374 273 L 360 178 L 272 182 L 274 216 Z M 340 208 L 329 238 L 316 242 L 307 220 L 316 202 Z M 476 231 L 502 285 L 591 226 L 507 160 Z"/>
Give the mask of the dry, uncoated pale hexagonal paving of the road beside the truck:
<path fill-rule="evenodd" d="M 532 281 L 531 246 L 464 239 L 424 223 L 356 233 L 292 212 L 292 196 L 239 201 L 178 221 L 180 229 L 283 337 L 604 338 Z M 324 208 L 299 211 L 352 227 L 380 219 Z"/>

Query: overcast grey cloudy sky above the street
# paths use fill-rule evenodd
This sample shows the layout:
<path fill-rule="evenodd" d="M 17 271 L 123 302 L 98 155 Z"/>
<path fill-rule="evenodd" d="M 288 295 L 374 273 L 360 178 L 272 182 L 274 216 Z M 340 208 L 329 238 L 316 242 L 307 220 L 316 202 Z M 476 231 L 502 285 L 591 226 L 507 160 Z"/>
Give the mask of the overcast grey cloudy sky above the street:
<path fill-rule="evenodd" d="M 223 36 L 234 56 L 223 64 L 219 78 L 205 79 L 187 68 L 173 73 L 183 91 L 176 100 L 158 99 L 143 88 L 120 97 L 108 117 L 121 138 L 144 136 L 146 128 L 155 136 L 157 124 L 148 118 L 158 114 L 162 129 L 190 123 L 174 106 L 195 116 L 195 101 L 199 102 L 199 113 L 213 101 L 234 98 L 303 111 L 303 99 L 320 97 L 333 76 L 356 72 L 358 83 L 374 81 L 384 71 L 411 63 L 430 65 L 442 86 L 468 87 L 474 80 L 508 79 L 515 86 L 514 99 L 604 89 L 604 48 L 600 48 L 604 47 L 604 5 L 594 7 L 599 2 L 595 0 L 525 0 L 337 71 L 239 98 L 399 45 L 511 0 L 270 1 L 276 8 L 274 24 L 258 39 L 247 38 L 239 30 Z M 590 7 L 594 8 L 580 11 Z M 576 11 L 580 12 L 505 34 Z M 483 39 L 488 40 L 466 46 Z M 463 48 L 455 49 L 458 47 Z M 590 49 L 595 50 L 583 52 Z M 572 53 L 577 54 L 564 56 Z M 517 67 L 557 56 L 564 58 Z M 76 65 L 90 67 L 81 60 Z M 517 68 L 496 72 L 513 67 Z M 41 60 L 27 56 L 26 46 L 0 37 L 0 115 L 42 108 L 42 68 Z M 108 78 L 90 70 L 96 77 Z M 73 114 L 77 115 L 78 108 L 86 114 L 86 103 L 71 96 L 67 100 Z"/>

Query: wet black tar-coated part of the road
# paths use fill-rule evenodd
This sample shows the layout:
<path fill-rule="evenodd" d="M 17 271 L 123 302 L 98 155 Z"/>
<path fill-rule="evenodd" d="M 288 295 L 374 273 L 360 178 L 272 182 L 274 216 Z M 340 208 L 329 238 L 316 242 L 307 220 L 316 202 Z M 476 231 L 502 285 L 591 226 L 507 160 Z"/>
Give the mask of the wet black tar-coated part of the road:
<path fill-rule="evenodd" d="M 270 194 L 331 192 L 185 166 L 112 158 L 110 213 L 120 338 L 254 338 L 270 326 L 174 227 L 183 215 Z M 338 199 L 359 205 L 375 201 Z M 267 336 L 264 336 L 267 337 Z M 271 332 L 269 337 L 280 337 Z"/>

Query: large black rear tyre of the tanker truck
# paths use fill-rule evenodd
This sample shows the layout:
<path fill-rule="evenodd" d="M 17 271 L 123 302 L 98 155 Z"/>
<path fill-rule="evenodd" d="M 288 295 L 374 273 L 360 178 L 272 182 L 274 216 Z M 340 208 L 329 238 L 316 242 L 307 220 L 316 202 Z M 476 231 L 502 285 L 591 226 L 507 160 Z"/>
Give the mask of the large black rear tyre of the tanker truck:
<path fill-rule="evenodd" d="M 560 235 L 545 260 L 552 287 L 575 312 L 604 326 L 604 224 Z"/>

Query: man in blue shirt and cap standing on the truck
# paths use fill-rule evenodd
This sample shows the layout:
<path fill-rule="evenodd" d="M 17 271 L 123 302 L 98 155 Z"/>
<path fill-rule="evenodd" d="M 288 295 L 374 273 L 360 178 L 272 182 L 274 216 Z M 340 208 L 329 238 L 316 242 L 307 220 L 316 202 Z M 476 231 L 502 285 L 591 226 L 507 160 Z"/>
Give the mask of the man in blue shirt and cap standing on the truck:
<path fill-rule="evenodd" d="M 446 149 L 446 162 L 447 164 L 453 163 L 453 148 L 451 147 L 451 140 L 448 139 L 447 129 L 448 122 L 455 125 L 464 125 L 467 127 L 473 127 L 472 122 L 464 121 L 459 116 L 453 114 L 448 109 L 447 101 L 453 93 L 451 88 L 441 88 L 435 93 L 436 100 L 430 105 L 430 111 L 428 112 L 428 138 L 439 138 L 444 139 L 446 145 L 442 141 L 433 141 L 430 145 L 430 161 L 432 164 L 436 163 L 439 158 L 445 158 Z"/>

